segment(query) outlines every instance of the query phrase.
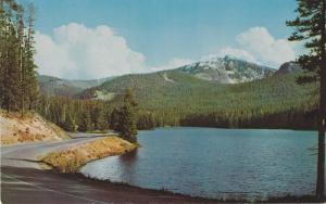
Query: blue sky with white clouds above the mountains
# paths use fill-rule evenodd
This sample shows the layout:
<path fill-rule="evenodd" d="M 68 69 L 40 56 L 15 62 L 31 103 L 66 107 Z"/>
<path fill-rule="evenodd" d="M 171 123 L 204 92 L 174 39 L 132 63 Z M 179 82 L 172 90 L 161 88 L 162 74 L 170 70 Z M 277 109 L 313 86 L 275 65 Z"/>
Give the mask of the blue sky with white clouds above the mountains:
<path fill-rule="evenodd" d="M 41 74 L 91 79 L 233 55 L 278 68 L 296 0 L 22 0 L 36 7 Z"/>

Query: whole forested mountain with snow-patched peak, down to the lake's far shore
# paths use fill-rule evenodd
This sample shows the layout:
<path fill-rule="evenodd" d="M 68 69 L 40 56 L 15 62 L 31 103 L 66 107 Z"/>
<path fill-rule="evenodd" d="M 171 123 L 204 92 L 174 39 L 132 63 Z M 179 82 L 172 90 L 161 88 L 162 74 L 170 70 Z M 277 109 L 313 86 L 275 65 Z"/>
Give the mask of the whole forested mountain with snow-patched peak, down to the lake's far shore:
<path fill-rule="evenodd" d="M 226 78 L 223 80 L 202 78 L 202 75 L 198 75 L 204 73 L 215 76 L 216 73 L 226 71 L 229 73 L 224 75 Z M 238 73 L 240 77 L 235 77 L 234 73 Z M 247 77 L 243 73 L 254 74 Z M 298 84 L 297 79 L 305 75 L 304 73 L 274 73 L 267 67 L 224 58 L 170 71 L 115 77 L 77 93 L 76 98 L 105 100 L 93 101 L 93 105 L 99 104 L 105 113 L 102 115 L 108 116 L 113 107 L 122 104 L 125 89 L 133 88 L 139 104 L 140 128 L 179 125 L 313 128 L 317 84 Z M 251 81 L 238 82 L 243 80 Z M 76 104 L 79 102 L 76 101 Z"/>

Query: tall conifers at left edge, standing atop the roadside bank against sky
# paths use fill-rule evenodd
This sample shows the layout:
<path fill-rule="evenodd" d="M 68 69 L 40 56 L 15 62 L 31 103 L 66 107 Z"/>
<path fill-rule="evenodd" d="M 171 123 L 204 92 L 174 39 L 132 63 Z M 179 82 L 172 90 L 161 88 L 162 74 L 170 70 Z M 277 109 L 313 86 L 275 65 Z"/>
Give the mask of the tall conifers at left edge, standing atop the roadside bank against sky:
<path fill-rule="evenodd" d="M 34 33 L 33 4 L 0 1 L 0 105 L 7 111 L 24 113 L 36 107 Z"/>

